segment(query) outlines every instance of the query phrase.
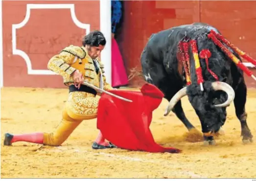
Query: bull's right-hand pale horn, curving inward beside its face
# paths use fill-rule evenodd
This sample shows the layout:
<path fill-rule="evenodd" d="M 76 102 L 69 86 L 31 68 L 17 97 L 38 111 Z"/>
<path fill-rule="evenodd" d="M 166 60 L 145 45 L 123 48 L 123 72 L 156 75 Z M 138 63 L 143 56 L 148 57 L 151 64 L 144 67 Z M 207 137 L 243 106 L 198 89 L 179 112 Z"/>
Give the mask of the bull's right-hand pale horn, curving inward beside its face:
<path fill-rule="evenodd" d="M 214 91 L 225 91 L 228 94 L 228 99 L 226 100 L 226 102 L 214 105 L 215 107 L 227 107 L 234 100 L 234 90 L 229 84 L 225 82 L 213 82 L 211 86 L 214 89 Z"/>

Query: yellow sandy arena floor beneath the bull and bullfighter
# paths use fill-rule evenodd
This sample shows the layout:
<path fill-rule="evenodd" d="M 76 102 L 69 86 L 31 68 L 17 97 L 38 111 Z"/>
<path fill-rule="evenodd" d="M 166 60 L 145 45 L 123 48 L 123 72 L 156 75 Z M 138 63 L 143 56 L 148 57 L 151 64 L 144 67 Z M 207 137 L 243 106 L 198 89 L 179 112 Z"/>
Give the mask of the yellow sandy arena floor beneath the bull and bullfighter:
<path fill-rule="evenodd" d="M 185 126 L 173 113 L 163 116 L 167 105 L 163 100 L 153 114 L 151 130 L 156 142 L 180 148 L 181 154 L 94 151 L 96 119 L 84 121 L 61 147 L 25 142 L 3 146 L 6 132 L 53 131 L 67 95 L 67 89 L 1 90 L 1 178 L 256 178 L 256 145 L 242 144 L 233 104 L 223 127 L 226 135 L 218 137 L 215 146 L 203 146 L 187 140 Z M 256 136 L 256 90 L 249 90 L 247 98 L 247 121 Z M 188 119 L 201 130 L 187 98 L 182 102 Z"/>

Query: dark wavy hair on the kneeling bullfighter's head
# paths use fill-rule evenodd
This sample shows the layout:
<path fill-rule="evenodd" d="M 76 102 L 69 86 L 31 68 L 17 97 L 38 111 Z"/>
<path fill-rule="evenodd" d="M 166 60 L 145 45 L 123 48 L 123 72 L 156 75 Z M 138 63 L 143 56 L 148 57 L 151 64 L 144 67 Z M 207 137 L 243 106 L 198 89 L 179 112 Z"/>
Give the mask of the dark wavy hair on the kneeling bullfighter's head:
<path fill-rule="evenodd" d="M 99 46 L 99 45 L 106 45 L 106 39 L 102 32 L 95 30 L 90 32 L 83 38 L 82 41 L 83 46 L 90 45 L 90 46 Z"/>

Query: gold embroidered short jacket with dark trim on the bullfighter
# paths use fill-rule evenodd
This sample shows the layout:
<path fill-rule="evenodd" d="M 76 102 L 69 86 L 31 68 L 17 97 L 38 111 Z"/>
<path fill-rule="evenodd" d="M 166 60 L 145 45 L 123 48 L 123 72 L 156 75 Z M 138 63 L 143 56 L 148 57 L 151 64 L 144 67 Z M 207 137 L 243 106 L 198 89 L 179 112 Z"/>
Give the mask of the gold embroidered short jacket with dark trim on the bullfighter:
<path fill-rule="evenodd" d="M 74 84 L 71 74 L 78 69 L 86 82 L 100 87 L 100 77 L 102 77 L 103 89 L 106 91 L 113 89 L 106 82 L 103 63 L 98 58 L 94 61 L 99 67 L 98 73 L 96 73 L 93 59 L 88 55 L 86 49 L 83 46 L 70 45 L 64 48 L 60 54 L 54 55 L 49 60 L 47 68 L 61 75 L 66 86 Z"/>

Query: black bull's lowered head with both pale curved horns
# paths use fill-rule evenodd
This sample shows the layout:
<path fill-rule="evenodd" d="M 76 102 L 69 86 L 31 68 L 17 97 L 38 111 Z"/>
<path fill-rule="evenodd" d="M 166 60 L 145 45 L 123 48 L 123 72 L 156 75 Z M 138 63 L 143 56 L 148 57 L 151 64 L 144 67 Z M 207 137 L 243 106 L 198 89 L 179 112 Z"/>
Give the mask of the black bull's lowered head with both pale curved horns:
<path fill-rule="evenodd" d="M 233 101 L 234 91 L 225 82 L 205 82 L 204 88 L 204 91 L 201 91 L 198 86 L 192 84 L 178 91 L 170 100 L 164 115 L 166 116 L 177 102 L 187 95 L 200 119 L 204 135 L 210 136 L 218 133 L 224 124 L 227 115 L 225 107 Z"/>

